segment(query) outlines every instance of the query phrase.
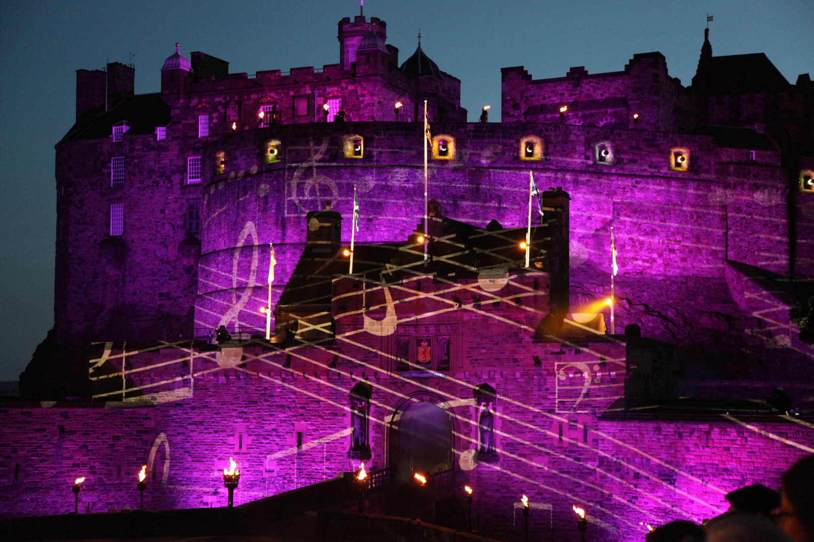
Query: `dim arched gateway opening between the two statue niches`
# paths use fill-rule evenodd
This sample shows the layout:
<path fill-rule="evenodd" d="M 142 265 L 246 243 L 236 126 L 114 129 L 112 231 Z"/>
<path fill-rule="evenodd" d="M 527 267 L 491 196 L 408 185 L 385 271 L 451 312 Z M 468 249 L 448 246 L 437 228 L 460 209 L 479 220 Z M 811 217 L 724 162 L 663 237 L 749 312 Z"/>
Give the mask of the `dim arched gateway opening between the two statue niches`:
<path fill-rule="evenodd" d="M 453 427 L 440 406 L 426 401 L 409 405 L 391 431 L 391 466 L 397 480 L 452 468 Z"/>

